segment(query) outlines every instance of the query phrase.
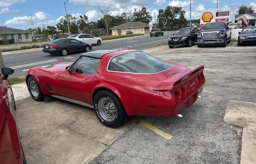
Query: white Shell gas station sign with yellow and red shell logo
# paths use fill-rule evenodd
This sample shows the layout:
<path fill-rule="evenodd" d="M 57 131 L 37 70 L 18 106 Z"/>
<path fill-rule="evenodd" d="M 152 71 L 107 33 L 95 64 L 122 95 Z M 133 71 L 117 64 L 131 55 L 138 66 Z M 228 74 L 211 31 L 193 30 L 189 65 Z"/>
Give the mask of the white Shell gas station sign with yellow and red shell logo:
<path fill-rule="evenodd" d="M 231 8 L 204 10 L 201 12 L 200 28 L 208 22 L 230 22 Z"/>

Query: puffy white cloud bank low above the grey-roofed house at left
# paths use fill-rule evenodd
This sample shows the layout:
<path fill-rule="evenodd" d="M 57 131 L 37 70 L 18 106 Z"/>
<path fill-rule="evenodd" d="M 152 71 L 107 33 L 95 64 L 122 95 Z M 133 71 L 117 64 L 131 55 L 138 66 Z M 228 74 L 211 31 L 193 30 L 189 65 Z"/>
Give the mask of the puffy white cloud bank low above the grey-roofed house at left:
<path fill-rule="evenodd" d="M 37 12 L 34 16 L 32 16 L 33 21 L 42 21 L 46 20 L 48 17 L 48 14 L 45 12 Z M 28 24 L 31 22 L 30 16 L 18 16 L 14 17 L 11 20 L 7 20 L 4 25 L 10 26 L 10 25 L 20 25 L 20 24 Z"/>

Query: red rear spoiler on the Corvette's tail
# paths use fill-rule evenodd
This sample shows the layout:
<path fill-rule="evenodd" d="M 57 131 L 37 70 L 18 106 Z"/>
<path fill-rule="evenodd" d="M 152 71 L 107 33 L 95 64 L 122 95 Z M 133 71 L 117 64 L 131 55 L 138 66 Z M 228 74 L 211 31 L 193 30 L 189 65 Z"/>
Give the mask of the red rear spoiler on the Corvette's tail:
<path fill-rule="evenodd" d="M 185 79 L 190 79 L 194 73 L 199 73 L 199 71 L 202 71 L 204 69 L 203 65 L 193 65 L 189 69 L 184 70 L 182 73 L 178 73 L 169 79 L 166 79 L 162 83 L 158 84 L 156 87 L 154 87 L 154 91 L 171 91 L 175 85 L 178 83 L 182 83 L 182 81 L 185 81 Z M 194 76 L 193 76 L 194 77 Z"/>

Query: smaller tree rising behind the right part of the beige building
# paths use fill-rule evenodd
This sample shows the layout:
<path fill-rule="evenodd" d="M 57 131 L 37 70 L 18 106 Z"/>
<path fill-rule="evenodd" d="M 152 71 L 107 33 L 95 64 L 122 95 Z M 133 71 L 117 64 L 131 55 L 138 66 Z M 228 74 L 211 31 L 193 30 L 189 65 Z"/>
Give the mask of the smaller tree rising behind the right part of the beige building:
<path fill-rule="evenodd" d="M 132 14 L 132 21 L 133 22 L 144 22 L 148 24 L 148 22 L 151 22 L 152 16 L 150 15 L 150 12 L 147 10 L 145 6 L 142 6 L 141 9 L 135 8 L 134 12 Z"/>

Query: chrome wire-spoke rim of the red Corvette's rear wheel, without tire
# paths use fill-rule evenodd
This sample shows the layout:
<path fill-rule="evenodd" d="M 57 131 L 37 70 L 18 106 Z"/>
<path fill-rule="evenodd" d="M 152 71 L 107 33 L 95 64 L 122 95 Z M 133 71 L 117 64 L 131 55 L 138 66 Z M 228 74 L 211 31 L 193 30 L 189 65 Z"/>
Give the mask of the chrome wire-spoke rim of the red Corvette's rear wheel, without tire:
<path fill-rule="evenodd" d="M 98 110 L 102 118 L 106 121 L 114 121 L 117 115 L 117 109 L 114 102 L 106 97 L 103 97 L 98 102 Z"/>

